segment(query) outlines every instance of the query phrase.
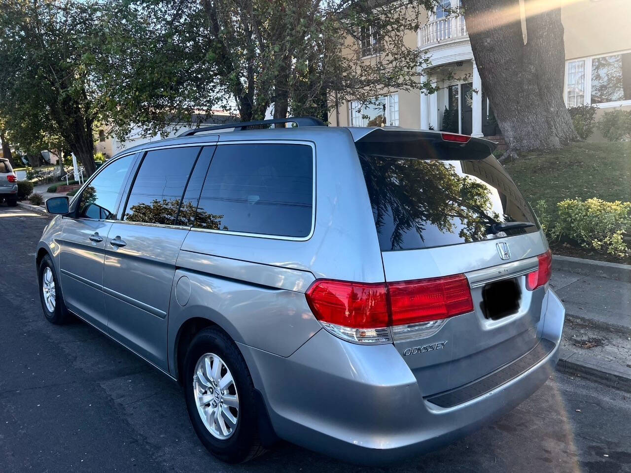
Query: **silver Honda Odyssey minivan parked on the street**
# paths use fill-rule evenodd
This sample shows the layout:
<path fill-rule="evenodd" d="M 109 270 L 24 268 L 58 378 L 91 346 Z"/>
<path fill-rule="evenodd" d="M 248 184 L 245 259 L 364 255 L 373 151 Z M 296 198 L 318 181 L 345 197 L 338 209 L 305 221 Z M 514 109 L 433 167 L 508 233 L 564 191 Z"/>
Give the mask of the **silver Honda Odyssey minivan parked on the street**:
<path fill-rule="evenodd" d="M 437 448 L 558 359 L 550 250 L 494 146 L 295 118 L 127 149 L 46 202 L 45 317 L 179 382 L 226 462 L 278 439 L 368 464 Z"/>

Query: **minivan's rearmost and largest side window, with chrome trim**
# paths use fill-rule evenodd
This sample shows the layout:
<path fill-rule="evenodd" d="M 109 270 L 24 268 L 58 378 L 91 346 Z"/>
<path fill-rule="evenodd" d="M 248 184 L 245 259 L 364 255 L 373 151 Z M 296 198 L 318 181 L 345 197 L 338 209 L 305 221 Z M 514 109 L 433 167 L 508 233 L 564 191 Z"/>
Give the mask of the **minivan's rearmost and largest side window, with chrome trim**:
<path fill-rule="evenodd" d="M 195 226 L 307 237 L 313 206 L 313 152 L 305 144 L 217 146 Z"/>

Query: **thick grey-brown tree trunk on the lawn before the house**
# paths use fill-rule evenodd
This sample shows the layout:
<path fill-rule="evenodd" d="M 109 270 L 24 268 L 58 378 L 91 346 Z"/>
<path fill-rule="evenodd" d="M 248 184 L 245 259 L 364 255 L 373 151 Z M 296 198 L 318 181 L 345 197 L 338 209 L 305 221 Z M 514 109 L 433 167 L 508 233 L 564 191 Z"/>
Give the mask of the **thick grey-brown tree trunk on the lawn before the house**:
<path fill-rule="evenodd" d="M 562 97 L 560 6 L 558 0 L 550 5 L 527 18 L 524 44 L 519 0 L 463 0 L 482 88 L 509 151 L 560 148 L 578 139 Z"/>

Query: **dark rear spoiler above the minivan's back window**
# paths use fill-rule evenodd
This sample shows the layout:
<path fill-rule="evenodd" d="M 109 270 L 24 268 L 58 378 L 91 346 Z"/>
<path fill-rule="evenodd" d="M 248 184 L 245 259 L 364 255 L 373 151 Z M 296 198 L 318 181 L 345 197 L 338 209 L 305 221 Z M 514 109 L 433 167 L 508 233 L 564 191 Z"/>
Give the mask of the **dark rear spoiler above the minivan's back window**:
<path fill-rule="evenodd" d="M 434 160 L 483 160 L 497 143 L 488 139 L 440 131 L 400 128 L 350 128 L 358 151 L 372 155 Z M 367 132 L 363 132 L 367 131 Z"/>

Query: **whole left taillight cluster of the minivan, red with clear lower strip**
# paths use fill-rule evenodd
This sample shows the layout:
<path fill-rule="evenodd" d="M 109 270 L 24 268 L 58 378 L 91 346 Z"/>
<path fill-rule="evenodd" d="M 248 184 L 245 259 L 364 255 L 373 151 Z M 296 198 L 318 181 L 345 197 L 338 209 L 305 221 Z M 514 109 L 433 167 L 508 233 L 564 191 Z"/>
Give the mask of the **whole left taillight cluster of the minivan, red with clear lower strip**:
<path fill-rule="evenodd" d="M 464 274 L 377 284 L 319 279 L 305 296 L 325 329 L 362 343 L 390 342 L 388 327 L 431 324 L 437 330 L 442 325 L 436 320 L 473 310 Z"/>

